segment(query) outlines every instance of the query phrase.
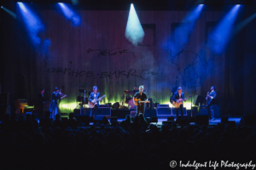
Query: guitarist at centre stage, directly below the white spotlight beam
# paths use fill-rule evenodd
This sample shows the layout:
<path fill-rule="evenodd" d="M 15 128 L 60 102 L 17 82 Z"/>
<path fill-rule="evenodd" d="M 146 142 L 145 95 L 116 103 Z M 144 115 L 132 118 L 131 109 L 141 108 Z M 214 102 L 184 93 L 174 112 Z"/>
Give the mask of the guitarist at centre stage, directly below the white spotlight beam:
<path fill-rule="evenodd" d="M 141 99 L 140 101 L 148 101 L 147 94 L 143 93 L 143 90 L 144 90 L 144 87 L 140 86 L 139 87 L 139 92 L 134 94 L 134 96 L 132 98 L 133 102 L 134 102 L 134 99 Z M 140 112 L 142 114 L 144 114 L 144 112 L 145 112 L 145 103 L 147 103 L 147 102 L 140 103 L 140 101 L 137 101 L 138 105 L 137 105 L 137 114 L 136 114 L 136 116 L 138 116 Z"/>

